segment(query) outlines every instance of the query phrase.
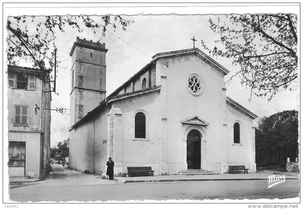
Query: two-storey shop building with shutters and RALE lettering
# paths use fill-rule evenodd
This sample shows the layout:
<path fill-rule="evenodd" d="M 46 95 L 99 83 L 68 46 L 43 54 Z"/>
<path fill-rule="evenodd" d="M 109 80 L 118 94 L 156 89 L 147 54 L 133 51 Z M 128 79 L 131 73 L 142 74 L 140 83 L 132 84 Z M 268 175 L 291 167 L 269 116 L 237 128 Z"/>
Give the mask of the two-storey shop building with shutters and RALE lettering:
<path fill-rule="evenodd" d="M 38 69 L 8 66 L 8 171 L 10 177 L 49 174 L 51 91 Z"/>

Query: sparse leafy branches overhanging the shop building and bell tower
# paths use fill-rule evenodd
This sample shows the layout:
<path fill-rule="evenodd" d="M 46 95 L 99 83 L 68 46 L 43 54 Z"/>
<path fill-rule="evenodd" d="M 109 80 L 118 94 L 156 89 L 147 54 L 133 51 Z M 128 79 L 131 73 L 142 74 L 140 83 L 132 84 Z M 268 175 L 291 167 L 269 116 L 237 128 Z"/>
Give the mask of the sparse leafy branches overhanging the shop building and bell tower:
<path fill-rule="evenodd" d="M 55 40 L 57 36 L 63 35 L 66 29 L 80 28 L 83 23 L 89 22 L 90 29 L 94 34 L 100 34 L 100 39 L 105 36 L 108 26 L 117 28 L 118 25 L 126 30 L 127 25 L 131 23 L 129 20 L 123 19 L 121 16 L 104 15 L 101 16 L 99 22 L 94 22 L 94 17 L 77 16 L 18 16 L 8 17 L 6 29 L 8 36 L 7 42 L 7 58 L 10 65 L 17 66 L 21 59 L 31 62 L 34 68 L 43 72 L 52 72 L 54 68 L 54 50 L 58 49 Z M 102 29 L 102 31 L 98 31 Z M 41 61 L 47 60 L 48 67 L 43 67 Z M 59 62 L 57 62 L 59 63 Z"/>

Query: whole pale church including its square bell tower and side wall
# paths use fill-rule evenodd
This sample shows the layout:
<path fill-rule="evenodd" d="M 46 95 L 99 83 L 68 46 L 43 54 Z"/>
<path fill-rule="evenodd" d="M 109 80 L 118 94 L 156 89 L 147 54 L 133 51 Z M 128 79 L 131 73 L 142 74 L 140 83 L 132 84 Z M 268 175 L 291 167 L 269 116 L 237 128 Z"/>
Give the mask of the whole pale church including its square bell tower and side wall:
<path fill-rule="evenodd" d="M 115 176 L 151 166 L 154 175 L 184 170 L 256 171 L 257 116 L 226 97 L 228 70 L 197 48 L 158 53 L 105 97 L 105 44 L 74 43 L 69 167 Z"/>

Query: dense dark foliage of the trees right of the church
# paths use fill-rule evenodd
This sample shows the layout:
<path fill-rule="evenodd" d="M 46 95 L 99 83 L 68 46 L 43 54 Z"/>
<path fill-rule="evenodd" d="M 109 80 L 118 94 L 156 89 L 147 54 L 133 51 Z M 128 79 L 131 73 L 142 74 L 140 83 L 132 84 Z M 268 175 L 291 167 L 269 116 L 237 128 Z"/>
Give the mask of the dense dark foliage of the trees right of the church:
<path fill-rule="evenodd" d="M 256 155 L 260 150 L 289 150 L 296 157 L 298 150 L 298 111 L 285 110 L 259 118 L 256 126 Z"/>

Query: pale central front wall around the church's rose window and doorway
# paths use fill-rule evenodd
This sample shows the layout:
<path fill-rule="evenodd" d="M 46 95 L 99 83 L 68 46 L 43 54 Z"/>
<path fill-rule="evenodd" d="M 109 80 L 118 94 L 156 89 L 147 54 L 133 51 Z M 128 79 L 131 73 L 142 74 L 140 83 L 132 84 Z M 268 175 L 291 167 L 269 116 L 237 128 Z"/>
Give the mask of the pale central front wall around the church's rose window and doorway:
<path fill-rule="evenodd" d="M 157 77 L 166 76 L 166 89 L 161 91 L 167 94 L 167 163 L 169 174 L 181 171 L 182 163 L 182 134 L 181 121 L 191 116 L 199 116 L 209 123 L 205 127 L 206 163 L 211 165 L 209 170 L 220 170 L 221 163 L 221 133 L 222 113 L 222 84 L 224 75 L 214 69 L 208 62 L 196 55 L 184 55 L 161 59 L 168 67 L 159 63 Z M 158 62 L 157 62 L 158 63 Z M 158 66 L 157 66 L 158 67 Z M 157 68 L 158 70 L 158 68 Z M 204 83 L 204 91 L 200 96 L 193 96 L 187 90 L 187 78 L 191 73 L 198 74 Z M 162 76 L 162 77 L 161 77 Z M 161 79 L 161 82 L 163 79 Z M 202 142 L 201 142 L 202 144 Z M 202 152 L 201 152 L 202 153 Z M 203 159 L 202 159 L 203 160 Z"/>

